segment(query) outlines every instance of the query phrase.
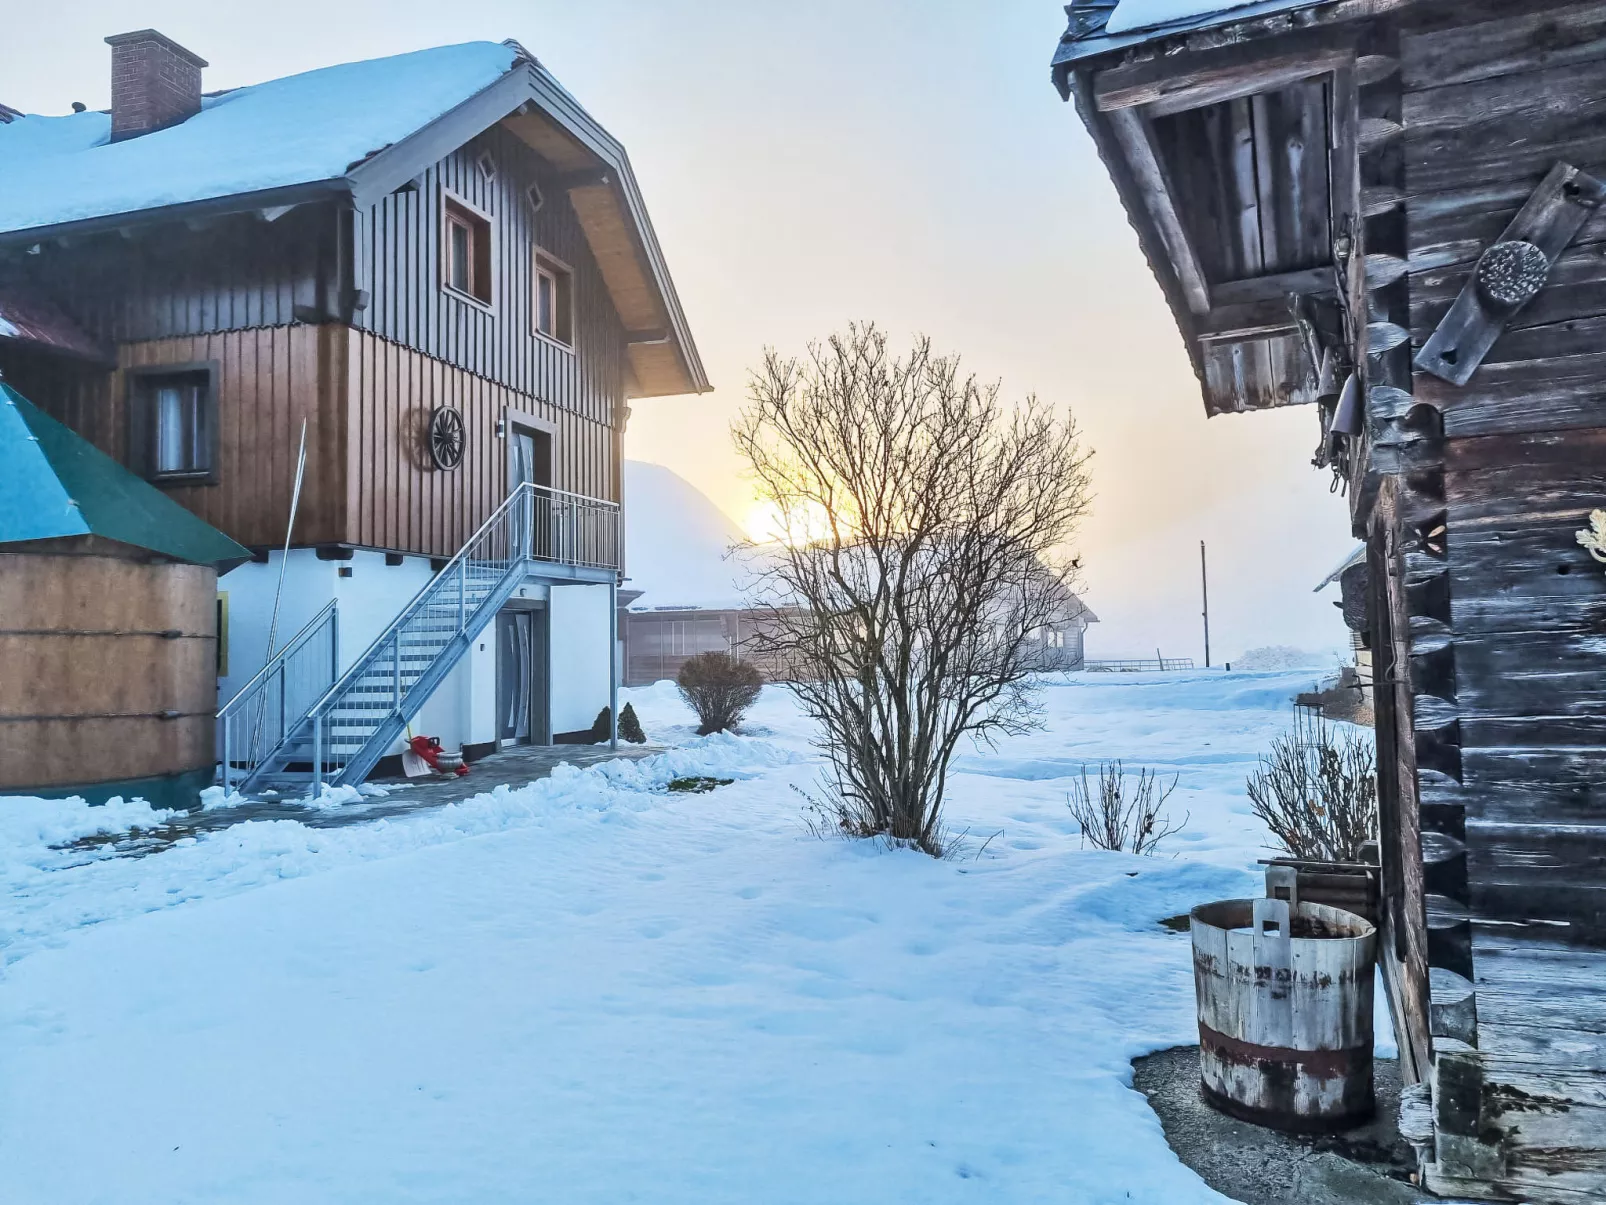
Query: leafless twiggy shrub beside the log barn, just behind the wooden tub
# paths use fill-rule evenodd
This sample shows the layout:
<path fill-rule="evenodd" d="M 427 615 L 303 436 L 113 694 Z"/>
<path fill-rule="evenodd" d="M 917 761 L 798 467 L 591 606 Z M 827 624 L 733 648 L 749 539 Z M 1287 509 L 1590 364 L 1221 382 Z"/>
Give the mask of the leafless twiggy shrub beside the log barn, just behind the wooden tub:
<path fill-rule="evenodd" d="M 1291 856 L 1360 861 L 1378 831 L 1372 742 L 1296 712 L 1249 776 L 1249 802 Z"/>

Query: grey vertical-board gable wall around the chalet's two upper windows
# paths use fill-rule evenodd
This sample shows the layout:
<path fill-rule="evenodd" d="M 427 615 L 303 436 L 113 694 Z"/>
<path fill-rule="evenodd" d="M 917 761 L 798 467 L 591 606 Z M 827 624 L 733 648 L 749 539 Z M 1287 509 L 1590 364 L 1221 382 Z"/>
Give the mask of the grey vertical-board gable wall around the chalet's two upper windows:
<path fill-rule="evenodd" d="M 490 180 L 479 167 L 483 153 L 496 165 Z M 538 210 L 527 198 L 530 185 L 543 198 Z M 442 288 L 443 190 L 490 217 L 490 307 Z M 625 397 L 625 329 L 567 191 L 522 140 L 491 127 L 426 170 L 416 190 L 393 193 L 361 219 L 358 273 L 373 294 L 357 315 L 363 329 L 586 421 L 612 419 Z M 535 247 L 573 270 L 572 350 L 535 334 Z M 613 496 L 612 485 L 594 485 Z"/>

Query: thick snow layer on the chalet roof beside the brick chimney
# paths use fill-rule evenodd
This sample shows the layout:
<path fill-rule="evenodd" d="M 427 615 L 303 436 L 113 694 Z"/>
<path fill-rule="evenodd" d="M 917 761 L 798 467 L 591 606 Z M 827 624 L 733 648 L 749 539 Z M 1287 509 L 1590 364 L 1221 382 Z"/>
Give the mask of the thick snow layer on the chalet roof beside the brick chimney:
<path fill-rule="evenodd" d="M 339 180 L 496 84 L 499 42 L 342 63 L 207 96 L 165 130 L 111 141 L 111 114 L 0 124 L 0 233 Z"/>

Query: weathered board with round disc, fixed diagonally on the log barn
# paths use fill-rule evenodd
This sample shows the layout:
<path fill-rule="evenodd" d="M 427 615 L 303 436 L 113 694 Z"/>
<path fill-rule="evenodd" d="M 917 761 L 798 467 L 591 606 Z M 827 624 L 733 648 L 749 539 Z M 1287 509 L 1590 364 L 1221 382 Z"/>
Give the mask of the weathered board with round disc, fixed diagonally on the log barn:
<path fill-rule="evenodd" d="M 1444 321 L 1416 353 L 1416 368 L 1465 386 L 1506 323 L 1534 300 L 1556 260 L 1606 201 L 1606 183 L 1558 162 L 1466 280 Z"/>

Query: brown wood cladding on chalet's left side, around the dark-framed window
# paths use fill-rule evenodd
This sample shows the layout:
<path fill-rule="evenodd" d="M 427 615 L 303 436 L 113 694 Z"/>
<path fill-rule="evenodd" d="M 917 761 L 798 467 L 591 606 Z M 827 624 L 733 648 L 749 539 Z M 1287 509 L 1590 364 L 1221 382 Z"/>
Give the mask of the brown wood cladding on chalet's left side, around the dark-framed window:
<path fill-rule="evenodd" d="M 307 480 L 296 543 L 344 538 L 345 328 L 275 326 L 122 344 L 117 371 L 64 366 L 59 358 L 11 357 L 6 379 L 51 418 L 127 464 L 127 378 L 137 365 L 218 365 L 218 472 L 215 485 L 164 492 L 243 545 L 284 541 L 296 448 L 307 419 Z"/>

